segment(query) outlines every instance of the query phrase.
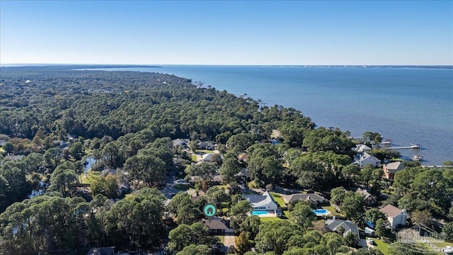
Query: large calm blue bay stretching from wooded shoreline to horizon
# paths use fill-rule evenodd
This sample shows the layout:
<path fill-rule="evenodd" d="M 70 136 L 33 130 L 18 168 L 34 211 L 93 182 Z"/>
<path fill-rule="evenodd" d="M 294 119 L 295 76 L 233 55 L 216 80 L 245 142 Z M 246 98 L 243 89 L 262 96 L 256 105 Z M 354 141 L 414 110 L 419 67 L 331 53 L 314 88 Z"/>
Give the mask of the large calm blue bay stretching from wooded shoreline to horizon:
<path fill-rule="evenodd" d="M 164 66 L 110 68 L 175 74 L 268 106 L 296 108 L 318 126 L 379 132 L 424 165 L 453 161 L 453 69 Z"/>

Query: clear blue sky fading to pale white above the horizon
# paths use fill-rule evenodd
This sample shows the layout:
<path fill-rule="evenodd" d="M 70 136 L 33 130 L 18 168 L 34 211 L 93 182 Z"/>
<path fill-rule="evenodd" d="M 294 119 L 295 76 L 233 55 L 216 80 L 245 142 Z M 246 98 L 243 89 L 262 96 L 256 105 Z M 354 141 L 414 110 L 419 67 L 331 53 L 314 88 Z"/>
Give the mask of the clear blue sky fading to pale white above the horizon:
<path fill-rule="evenodd" d="M 0 64 L 453 64 L 453 1 L 0 0 Z"/>

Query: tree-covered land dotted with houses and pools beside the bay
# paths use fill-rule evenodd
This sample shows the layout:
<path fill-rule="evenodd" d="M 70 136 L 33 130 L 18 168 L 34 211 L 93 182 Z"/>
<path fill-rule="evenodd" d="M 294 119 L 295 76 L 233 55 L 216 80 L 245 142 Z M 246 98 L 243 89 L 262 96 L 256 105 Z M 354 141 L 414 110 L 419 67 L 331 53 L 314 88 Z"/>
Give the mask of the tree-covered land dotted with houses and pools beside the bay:
<path fill-rule="evenodd" d="M 376 132 L 190 79 L 86 68 L 0 67 L 0 254 L 453 246 L 453 162 L 406 162 Z"/>

